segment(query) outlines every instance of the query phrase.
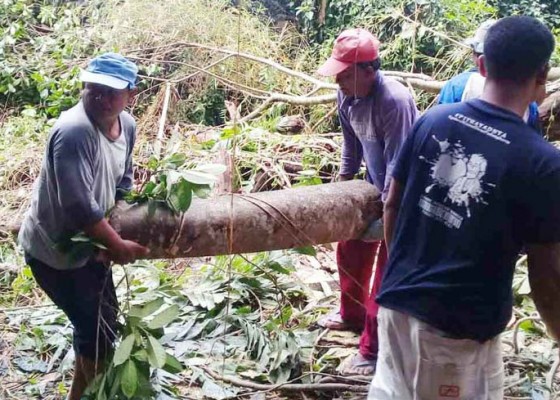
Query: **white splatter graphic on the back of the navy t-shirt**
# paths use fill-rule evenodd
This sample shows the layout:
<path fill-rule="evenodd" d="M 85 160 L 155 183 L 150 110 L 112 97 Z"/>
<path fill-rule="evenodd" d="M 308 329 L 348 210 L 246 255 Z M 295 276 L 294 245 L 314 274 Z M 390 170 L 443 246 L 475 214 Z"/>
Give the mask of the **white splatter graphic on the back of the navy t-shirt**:
<path fill-rule="evenodd" d="M 434 188 L 447 189 L 445 202 L 464 208 L 467 218 L 471 217 L 470 206 L 472 203 L 487 204 L 484 201 L 485 186 L 495 185 L 484 181 L 488 161 L 482 154 L 469 154 L 465 146 L 458 140 L 455 143 L 449 140 L 432 138 L 439 145 L 439 152 L 433 160 L 423 156 L 420 159 L 430 164 L 430 177 L 432 183 L 425 189 L 429 194 Z M 420 198 L 420 208 L 429 217 L 435 218 L 448 227 L 460 228 L 463 217 L 460 213 L 441 204 L 428 196 Z"/>

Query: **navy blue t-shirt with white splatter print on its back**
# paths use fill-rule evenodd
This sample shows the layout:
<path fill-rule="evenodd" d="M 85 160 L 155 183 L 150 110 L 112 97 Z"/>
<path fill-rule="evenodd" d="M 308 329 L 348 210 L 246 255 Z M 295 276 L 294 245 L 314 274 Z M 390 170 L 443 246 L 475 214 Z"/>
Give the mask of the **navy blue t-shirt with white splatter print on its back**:
<path fill-rule="evenodd" d="M 393 178 L 404 192 L 378 303 L 451 337 L 494 337 L 522 246 L 560 241 L 560 151 L 470 100 L 418 120 Z"/>

